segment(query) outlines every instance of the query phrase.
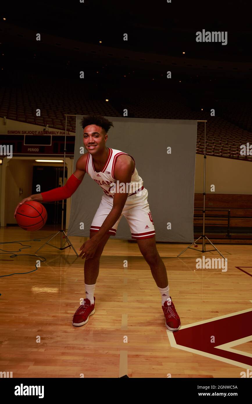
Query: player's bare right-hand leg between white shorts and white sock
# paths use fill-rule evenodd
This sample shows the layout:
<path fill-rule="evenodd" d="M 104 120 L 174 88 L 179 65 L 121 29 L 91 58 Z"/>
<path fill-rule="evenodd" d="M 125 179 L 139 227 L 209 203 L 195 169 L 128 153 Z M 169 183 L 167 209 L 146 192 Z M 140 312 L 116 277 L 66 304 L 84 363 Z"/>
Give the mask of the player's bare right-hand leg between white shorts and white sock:
<path fill-rule="evenodd" d="M 151 268 L 151 274 L 157 284 L 157 287 L 166 288 L 168 285 L 166 267 L 157 251 L 155 236 L 152 238 L 137 240 L 137 244 L 141 254 L 145 258 L 145 261 Z"/>

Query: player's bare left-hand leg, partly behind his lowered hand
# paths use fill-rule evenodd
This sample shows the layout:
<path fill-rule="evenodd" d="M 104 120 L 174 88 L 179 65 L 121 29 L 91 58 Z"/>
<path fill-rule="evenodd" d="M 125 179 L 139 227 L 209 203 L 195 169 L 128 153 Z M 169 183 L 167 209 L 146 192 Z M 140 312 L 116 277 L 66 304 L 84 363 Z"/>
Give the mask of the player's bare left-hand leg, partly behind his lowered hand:
<path fill-rule="evenodd" d="M 90 238 L 92 238 L 96 234 L 95 231 L 90 231 Z M 105 234 L 103 239 L 99 242 L 97 250 L 94 253 L 94 257 L 85 259 L 84 264 L 84 282 L 88 285 L 94 285 L 99 275 L 99 264 L 100 257 L 103 252 L 103 248 L 107 243 L 107 240 L 111 234 Z"/>

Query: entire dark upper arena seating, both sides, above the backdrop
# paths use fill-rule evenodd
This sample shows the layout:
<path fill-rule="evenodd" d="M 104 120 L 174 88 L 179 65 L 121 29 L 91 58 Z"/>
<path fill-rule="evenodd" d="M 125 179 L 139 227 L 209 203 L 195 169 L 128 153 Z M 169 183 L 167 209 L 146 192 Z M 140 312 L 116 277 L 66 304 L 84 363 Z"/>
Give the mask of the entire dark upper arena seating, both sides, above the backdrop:
<path fill-rule="evenodd" d="M 22 81 L 23 82 L 23 81 Z M 83 90 L 84 88 L 84 90 Z M 100 88 L 100 87 L 99 87 Z M 126 93 L 126 92 L 125 92 Z M 105 116 L 122 116 L 123 109 L 128 109 L 128 116 L 134 118 L 156 119 L 195 119 L 207 120 L 206 154 L 210 156 L 235 158 L 252 161 L 252 156 L 241 156 L 240 146 L 252 144 L 252 132 L 237 126 L 238 123 L 251 128 L 251 118 L 247 111 L 230 102 L 229 109 L 222 115 L 210 116 L 210 111 L 192 111 L 177 92 L 165 93 L 128 89 L 130 97 L 111 97 L 105 101 L 105 90 L 97 84 L 85 84 L 64 80 L 44 79 L 30 76 L 29 81 L 21 85 L 2 86 L 0 89 L 0 116 L 31 124 L 65 129 L 64 114 L 101 114 Z M 36 117 L 36 109 L 41 109 L 41 116 Z M 240 112 L 239 112 L 240 111 Z M 240 117 L 240 118 L 239 118 Z M 232 121 L 232 122 L 231 122 Z M 235 124 L 236 123 L 236 124 Z M 67 130 L 75 131 L 75 118 L 67 120 Z M 197 153 L 204 153 L 204 124 L 197 126 Z"/>

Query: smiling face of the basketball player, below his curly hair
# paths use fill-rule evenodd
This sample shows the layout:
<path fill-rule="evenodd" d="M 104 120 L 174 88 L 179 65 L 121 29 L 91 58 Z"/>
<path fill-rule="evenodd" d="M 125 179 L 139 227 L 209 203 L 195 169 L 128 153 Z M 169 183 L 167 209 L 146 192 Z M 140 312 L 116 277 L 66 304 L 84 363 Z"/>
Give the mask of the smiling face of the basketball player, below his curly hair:
<path fill-rule="evenodd" d="M 107 141 L 107 135 L 101 126 L 88 125 L 83 130 L 83 143 L 90 154 L 101 152 Z"/>

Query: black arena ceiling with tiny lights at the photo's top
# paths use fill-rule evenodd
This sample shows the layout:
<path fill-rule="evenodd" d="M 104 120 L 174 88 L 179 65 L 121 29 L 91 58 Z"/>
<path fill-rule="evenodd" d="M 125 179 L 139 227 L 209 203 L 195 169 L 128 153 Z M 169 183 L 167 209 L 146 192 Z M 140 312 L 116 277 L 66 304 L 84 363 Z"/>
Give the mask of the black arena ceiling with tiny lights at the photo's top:
<path fill-rule="evenodd" d="M 227 32 L 227 44 L 196 42 L 203 29 Z M 246 0 L 6 2 L 0 36 L 1 81 L 14 84 L 23 74 L 70 82 L 83 70 L 90 82 L 111 91 L 150 86 L 191 96 L 193 86 L 194 96 L 239 97 L 241 88 L 243 98 L 251 93 L 251 2 Z M 169 84 L 167 71 L 173 78 Z"/>

